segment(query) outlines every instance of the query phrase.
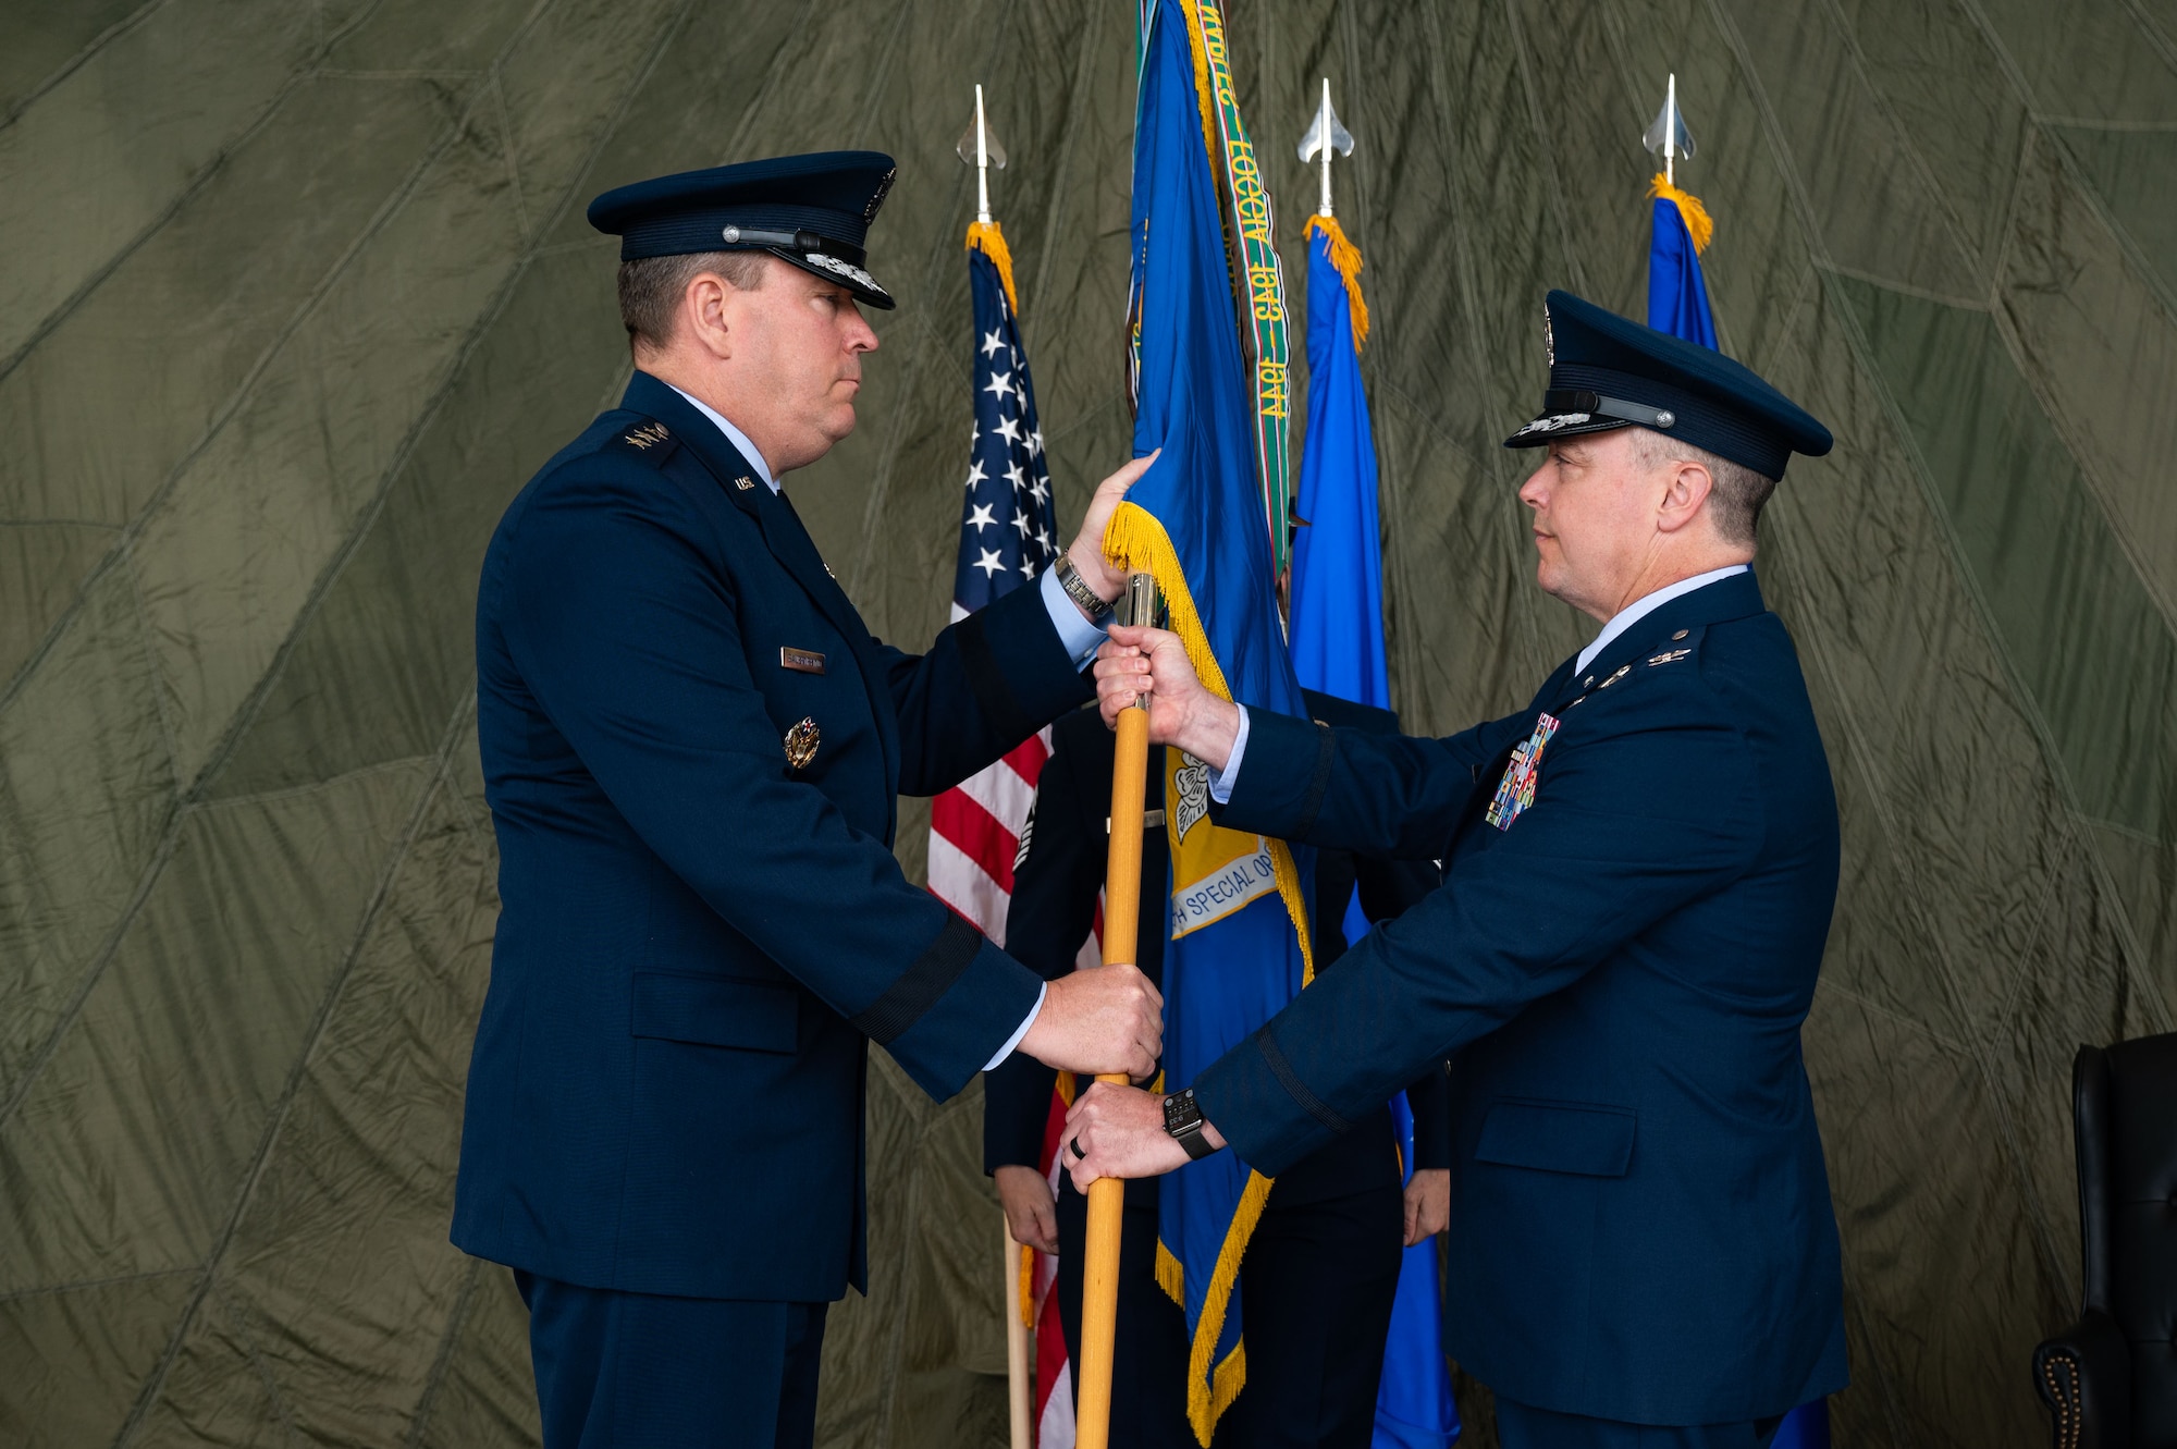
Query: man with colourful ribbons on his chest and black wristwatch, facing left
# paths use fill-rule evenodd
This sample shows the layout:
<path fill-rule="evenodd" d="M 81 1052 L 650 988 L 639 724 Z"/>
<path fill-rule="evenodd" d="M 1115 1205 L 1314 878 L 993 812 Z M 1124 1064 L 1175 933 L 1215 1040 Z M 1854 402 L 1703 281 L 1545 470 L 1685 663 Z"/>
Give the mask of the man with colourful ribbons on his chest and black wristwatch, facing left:
<path fill-rule="evenodd" d="M 1171 1103 L 1093 1088 L 1075 1179 L 1171 1131 L 1265 1173 L 1452 1053 L 1446 1349 L 1506 1449 L 1757 1449 L 1846 1382 L 1837 1231 L 1800 1023 L 1837 805 L 1755 520 L 1829 433 L 1707 348 L 1552 292 L 1539 583 L 1604 620 L 1520 714 L 1448 740 L 1239 711 L 1169 635 L 1115 631 L 1106 711 L 1213 775 L 1230 827 L 1443 859 Z"/>

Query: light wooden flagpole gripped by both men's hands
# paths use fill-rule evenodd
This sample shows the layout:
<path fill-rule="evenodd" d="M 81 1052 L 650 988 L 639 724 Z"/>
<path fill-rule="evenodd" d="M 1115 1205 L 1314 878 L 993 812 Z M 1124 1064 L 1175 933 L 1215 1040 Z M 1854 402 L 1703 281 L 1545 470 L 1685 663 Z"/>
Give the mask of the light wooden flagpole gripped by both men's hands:
<path fill-rule="evenodd" d="M 1147 624 L 1156 614 L 1156 581 L 1134 574 L 1121 598 L 1121 622 Z M 1104 857 L 1104 964 L 1139 964 L 1141 922 L 1141 796 L 1149 783 L 1149 711 L 1136 701 L 1119 711 L 1119 748 L 1110 764 L 1110 853 Z M 1097 1077 L 1117 1081 L 1126 1077 Z M 1088 1184 L 1088 1242 L 1082 1258 L 1082 1362 L 1078 1379 L 1075 1449 L 1110 1445 L 1110 1362 L 1119 1336 L 1119 1227 L 1126 1181 Z"/>

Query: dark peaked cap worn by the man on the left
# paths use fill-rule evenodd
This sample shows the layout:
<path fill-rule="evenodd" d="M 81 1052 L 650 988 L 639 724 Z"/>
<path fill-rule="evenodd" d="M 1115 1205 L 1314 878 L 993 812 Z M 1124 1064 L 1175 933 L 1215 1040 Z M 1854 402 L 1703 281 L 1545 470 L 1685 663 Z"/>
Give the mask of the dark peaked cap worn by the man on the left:
<path fill-rule="evenodd" d="M 890 309 L 862 242 L 897 170 L 877 150 L 714 165 L 605 191 L 590 202 L 590 226 L 620 239 L 620 261 L 771 252 Z"/>

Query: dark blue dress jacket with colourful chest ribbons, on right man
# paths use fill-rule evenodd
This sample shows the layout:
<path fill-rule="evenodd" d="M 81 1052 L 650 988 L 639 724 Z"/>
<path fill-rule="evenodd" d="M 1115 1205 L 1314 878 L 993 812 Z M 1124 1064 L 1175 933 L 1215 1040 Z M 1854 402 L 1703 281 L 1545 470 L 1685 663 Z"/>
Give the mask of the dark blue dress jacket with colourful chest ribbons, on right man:
<path fill-rule="evenodd" d="M 1800 1060 L 1837 805 L 1750 572 L 1448 740 L 1252 711 L 1221 818 L 1446 864 L 1441 890 L 1193 1086 L 1276 1173 L 1454 1053 L 1446 1351 L 1463 1369 L 1639 1425 L 1763 1421 L 1844 1386 Z"/>

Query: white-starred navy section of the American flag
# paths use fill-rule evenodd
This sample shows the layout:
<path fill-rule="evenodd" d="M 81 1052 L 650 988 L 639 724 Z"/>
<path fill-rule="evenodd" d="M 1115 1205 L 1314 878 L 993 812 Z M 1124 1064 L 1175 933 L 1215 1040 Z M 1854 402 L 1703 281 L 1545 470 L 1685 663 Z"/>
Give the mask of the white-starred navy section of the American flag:
<path fill-rule="evenodd" d="M 969 252 L 975 298 L 975 431 L 969 435 L 967 500 L 960 507 L 956 616 L 1043 577 L 1058 561 L 1058 513 L 1043 461 L 1028 357 L 1006 305 L 1006 283 L 980 250 Z"/>

